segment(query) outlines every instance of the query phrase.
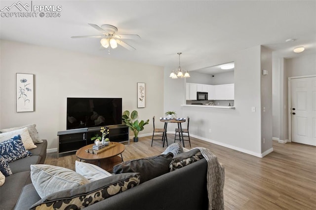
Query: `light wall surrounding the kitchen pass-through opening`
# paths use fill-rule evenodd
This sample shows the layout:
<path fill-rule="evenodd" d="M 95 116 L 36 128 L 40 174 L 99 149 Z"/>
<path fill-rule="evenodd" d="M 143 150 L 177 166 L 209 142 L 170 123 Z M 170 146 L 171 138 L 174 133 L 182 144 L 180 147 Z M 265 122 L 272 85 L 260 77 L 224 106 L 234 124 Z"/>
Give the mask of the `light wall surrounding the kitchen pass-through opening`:
<path fill-rule="evenodd" d="M 190 116 L 190 135 L 256 156 L 261 155 L 260 56 L 261 47 L 256 46 L 233 55 L 218 55 L 208 64 L 204 64 L 205 67 L 235 62 L 236 109 L 183 107 L 182 116 Z M 190 66 L 188 70 L 200 68 L 203 66 L 197 64 Z M 170 70 L 168 73 L 170 74 Z M 168 80 L 166 74 L 165 88 L 183 85 L 176 84 L 171 79 Z M 172 95 L 165 95 L 165 106 L 168 105 L 170 109 L 172 107 L 178 109 L 181 103 L 183 100 L 175 100 Z M 256 107 L 256 112 L 251 112 L 252 106 Z M 168 131 L 172 130 L 168 129 Z"/>

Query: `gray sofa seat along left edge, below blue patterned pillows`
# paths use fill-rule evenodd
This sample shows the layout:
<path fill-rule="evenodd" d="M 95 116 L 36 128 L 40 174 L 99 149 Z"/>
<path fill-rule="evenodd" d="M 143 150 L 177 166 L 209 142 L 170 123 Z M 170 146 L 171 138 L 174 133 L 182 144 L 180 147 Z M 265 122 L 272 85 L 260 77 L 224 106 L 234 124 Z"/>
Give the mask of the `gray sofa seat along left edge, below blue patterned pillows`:
<path fill-rule="evenodd" d="M 0 187 L 0 210 L 14 209 L 23 187 L 32 183 L 30 165 L 45 162 L 47 140 L 36 145 L 37 148 L 29 150 L 32 156 L 8 164 L 13 175 L 5 177 L 5 182 Z"/>

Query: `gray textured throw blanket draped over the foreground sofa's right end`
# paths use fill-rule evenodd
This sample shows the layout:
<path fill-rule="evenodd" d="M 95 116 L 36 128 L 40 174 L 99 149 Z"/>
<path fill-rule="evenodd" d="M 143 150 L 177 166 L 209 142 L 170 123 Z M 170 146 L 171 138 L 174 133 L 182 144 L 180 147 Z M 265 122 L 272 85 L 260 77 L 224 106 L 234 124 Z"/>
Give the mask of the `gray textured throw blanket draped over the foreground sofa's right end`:
<path fill-rule="evenodd" d="M 224 210 L 224 180 L 225 169 L 217 157 L 207 148 L 199 149 L 207 161 L 207 194 L 208 210 Z"/>

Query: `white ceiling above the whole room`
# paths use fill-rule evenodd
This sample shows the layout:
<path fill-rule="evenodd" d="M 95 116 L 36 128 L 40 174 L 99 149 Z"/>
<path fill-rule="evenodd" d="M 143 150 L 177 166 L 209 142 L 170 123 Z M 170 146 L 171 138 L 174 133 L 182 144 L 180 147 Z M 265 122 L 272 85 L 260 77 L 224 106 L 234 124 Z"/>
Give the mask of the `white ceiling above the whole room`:
<path fill-rule="evenodd" d="M 16 1 L 0 1 L 0 9 Z M 163 67 L 202 64 L 217 54 L 264 45 L 279 56 L 316 53 L 315 0 L 21 0 L 34 5 L 61 5 L 60 17 L 0 17 L 0 38 L 61 48 L 105 58 L 123 59 Z M 11 8 L 11 11 L 16 8 Z M 118 46 L 108 54 L 100 35 L 88 23 L 114 25 L 136 51 Z M 293 42 L 285 42 L 293 38 Z M 292 50 L 305 46 L 300 54 Z M 190 70 L 190 69 L 188 69 Z"/>

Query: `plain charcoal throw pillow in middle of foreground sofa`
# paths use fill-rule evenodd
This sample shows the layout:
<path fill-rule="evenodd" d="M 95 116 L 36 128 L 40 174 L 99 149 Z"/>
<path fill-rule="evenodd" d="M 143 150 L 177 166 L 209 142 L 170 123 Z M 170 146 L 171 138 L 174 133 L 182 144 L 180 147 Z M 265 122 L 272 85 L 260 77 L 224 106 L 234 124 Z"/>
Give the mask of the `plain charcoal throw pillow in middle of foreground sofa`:
<path fill-rule="evenodd" d="M 140 173 L 140 182 L 143 183 L 159 175 L 163 175 L 169 172 L 169 163 L 172 160 L 172 153 L 166 155 L 158 155 L 143 159 L 135 159 L 122 162 L 114 166 L 113 173 Z"/>

